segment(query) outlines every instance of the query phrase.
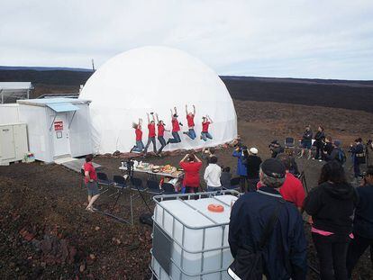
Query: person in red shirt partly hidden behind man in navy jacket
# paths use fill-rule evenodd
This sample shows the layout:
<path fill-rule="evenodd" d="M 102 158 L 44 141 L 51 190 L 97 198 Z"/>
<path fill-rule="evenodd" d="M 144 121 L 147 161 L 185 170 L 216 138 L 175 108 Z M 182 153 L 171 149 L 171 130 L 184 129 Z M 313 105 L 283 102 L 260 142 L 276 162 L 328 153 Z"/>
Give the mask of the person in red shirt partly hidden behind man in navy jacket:
<path fill-rule="evenodd" d="M 287 154 L 279 154 L 276 158 L 280 160 L 287 169 L 284 185 L 281 185 L 279 192 L 287 202 L 294 203 L 299 212 L 303 212 L 303 202 L 305 201 L 305 189 L 303 184 L 296 176 L 289 172 L 291 160 Z M 260 182 L 258 186 L 261 187 Z"/>

